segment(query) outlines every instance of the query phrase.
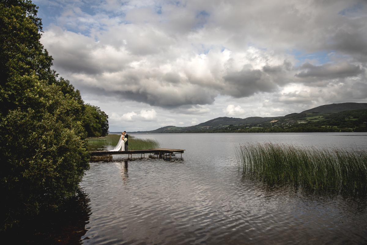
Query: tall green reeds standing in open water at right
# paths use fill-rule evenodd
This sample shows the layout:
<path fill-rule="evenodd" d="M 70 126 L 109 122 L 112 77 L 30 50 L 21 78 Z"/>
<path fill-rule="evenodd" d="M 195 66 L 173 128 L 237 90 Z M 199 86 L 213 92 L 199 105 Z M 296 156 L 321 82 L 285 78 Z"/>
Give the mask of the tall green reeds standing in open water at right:
<path fill-rule="evenodd" d="M 367 191 L 365 150 L 246 143 L 236 149 L 236 156 L 243 173 L 269 183 Z"/>

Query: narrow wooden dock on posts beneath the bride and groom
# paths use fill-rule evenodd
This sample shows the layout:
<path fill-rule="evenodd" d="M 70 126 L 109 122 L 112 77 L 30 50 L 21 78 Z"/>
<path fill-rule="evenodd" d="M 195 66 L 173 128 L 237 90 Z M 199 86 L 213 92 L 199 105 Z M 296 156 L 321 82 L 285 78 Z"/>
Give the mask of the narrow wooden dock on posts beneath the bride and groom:
<path fill-rule="evenodd" d="M 145 154 L 156 154 L 159 156 L 162 155 L 176 155 L 177 153 L 180 153 L 182 156 L 182 153 L 185 150 L 181 149 L 147 149 L 147 150 L 136 150 L 136 151 L 91 151 L 91 156 L 110 156 L 110 155 L 128 155 L 128 157 L 132 154 L 141 154 L 141 156 L 145 156 Z"/>

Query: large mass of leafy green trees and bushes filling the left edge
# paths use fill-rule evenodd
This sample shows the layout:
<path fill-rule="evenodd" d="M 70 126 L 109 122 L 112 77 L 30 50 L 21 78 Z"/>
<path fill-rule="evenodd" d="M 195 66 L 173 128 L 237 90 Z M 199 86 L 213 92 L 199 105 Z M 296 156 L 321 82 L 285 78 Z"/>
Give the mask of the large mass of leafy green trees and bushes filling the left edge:
<path fill-rule="evenodd" d="M 51 70 L 36 13 L 30 1 L 0 3 L 0 230 L 57 209 L 89 167 L 83 100 Z"/>

